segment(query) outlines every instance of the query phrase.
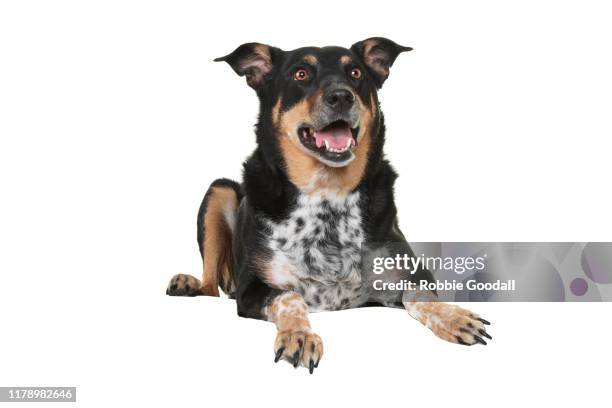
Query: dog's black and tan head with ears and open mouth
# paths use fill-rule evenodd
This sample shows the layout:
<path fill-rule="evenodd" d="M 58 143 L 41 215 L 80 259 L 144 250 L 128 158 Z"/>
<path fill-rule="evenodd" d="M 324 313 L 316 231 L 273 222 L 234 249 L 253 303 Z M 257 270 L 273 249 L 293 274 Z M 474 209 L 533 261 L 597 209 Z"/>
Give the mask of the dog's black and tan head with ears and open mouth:
<path fill-rule="evenodd" d="M 283 51 L 248 43 L 215 61 L 226 61 L 255 89 L 260 121 L 274 139 L 268 142 L 279 147 L 286 162 L 342 168 L 359 150 L 367 155 L 365 139 L 373 137 L 378 114 L 376 92 L 396 57 L 409 50 L 385 38 L 369 38 L 350 49 Z M 360 144 L 367 146 L 360 149 Z"/>

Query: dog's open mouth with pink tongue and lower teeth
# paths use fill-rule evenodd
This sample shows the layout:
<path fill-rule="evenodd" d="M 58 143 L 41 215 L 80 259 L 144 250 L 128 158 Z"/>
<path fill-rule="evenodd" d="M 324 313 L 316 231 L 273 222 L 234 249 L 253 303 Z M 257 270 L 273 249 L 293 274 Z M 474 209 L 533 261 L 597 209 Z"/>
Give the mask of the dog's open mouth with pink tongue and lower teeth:
<path fill-rule="evenodd" d="M 337 120 L 318 130 L 303 126 L 298 131 L 304 147 L 325 161 L 340 165 L 352 158 L 358 134 L 359 128 L 351 128 L 344 120 Z"/>

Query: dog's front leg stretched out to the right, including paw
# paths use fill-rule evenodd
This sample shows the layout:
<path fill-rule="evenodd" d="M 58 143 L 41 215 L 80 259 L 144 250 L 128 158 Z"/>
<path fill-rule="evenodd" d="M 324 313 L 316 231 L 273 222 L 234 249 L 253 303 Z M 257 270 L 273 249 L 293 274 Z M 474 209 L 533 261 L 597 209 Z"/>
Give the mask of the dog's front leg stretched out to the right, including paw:
<path fill-rule="evenodd" d="M 410 316 L 443 340 L 471 346 L 486 345 L 483 337 L 491 339 L 485 330 L 488 321 L 459 306 L 439 302 L 433 292 L 405 291 L 402 303 Z"/>

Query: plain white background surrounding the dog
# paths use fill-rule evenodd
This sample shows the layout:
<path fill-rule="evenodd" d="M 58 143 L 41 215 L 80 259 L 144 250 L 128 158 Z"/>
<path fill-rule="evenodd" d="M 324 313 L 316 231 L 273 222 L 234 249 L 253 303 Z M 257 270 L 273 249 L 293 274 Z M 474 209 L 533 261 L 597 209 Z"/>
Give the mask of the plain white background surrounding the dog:
<path fill-rule="evenodd" d="M 608 4 L 3 1 L 0 385 L 84 407 L 609 404 L 609 304 L 472 304 L 494 341 L 471 348 L 400 310 L 320 313 L 310 376 L 233 301 L 164 296 L 200 275 L 207 185 L 254 147 L 256 97 L 212 62 L 250 41 L 414 47 L 380 95 L 410 240 L 611 240 Z"/>

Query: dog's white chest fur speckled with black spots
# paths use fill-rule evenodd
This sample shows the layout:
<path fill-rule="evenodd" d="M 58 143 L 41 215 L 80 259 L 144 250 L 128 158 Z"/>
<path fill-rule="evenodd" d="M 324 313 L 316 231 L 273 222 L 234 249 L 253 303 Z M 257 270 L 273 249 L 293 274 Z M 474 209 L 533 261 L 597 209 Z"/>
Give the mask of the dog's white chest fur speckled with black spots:
<path fill-rule="evenodd" d="M 362 302 L 359 193 L 301 195 L 287 219 L 268 227 L 271 284 L 301 293 L 312 310 Z"/>

